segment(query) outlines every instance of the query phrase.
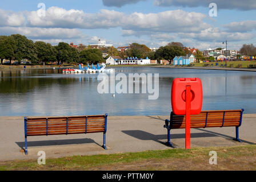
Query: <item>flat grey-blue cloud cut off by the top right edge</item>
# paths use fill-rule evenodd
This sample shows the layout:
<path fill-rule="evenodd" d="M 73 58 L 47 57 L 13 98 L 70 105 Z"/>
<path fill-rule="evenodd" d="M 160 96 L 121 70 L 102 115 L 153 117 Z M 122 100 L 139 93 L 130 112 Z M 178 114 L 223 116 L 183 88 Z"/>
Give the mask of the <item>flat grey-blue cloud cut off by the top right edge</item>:
<path fill-rule="evenodd" d="M 182 7 L 209 7 L 210 3 L 216 3 L 218 9 L 229 10 L 255 10 L 255 0 L 155 0 L 156 6 L 182 6 Z"/>

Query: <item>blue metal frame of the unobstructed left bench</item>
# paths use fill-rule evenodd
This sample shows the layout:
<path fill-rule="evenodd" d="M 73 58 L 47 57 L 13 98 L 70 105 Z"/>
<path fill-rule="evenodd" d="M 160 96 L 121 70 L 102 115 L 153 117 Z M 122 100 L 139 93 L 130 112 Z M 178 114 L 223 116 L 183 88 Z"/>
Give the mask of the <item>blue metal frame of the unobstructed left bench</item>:
<path fill-rule="evenodd" d="M 103 131 L 103 146 L 102 146 L 105 150 L 107 150 L 107 147 L 106 147 L 107 116 L 108 116 L 108 114 L 105 114 L 105 130 Z M 69 117 L 66 117 L 66 118 L 67 118 L 66 135 L 68 135 L 67 131 L 68 131 L 68 119 L 69 119 Z M 47 122 L 47 120 L 48 120 L 48 118 L 46 118 L 46 136 L 48 136 L 48 122 Z M 27 155 L 27 117 L 24 118 L 24 129 L 25 129 L 25 155 Z M 87 133 L 87 116 L 86 116 L 85 134 L 86 133 Z"/>

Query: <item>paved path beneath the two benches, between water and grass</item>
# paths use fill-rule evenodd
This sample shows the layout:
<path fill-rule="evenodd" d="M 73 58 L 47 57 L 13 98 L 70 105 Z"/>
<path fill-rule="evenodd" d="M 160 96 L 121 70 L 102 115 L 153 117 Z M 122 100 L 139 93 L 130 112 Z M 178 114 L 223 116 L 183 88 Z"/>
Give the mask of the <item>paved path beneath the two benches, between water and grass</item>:
<path fill-rule="evenodd" d="M 45 151 L 46 158 L 69 155 L 113 154 L 164 150 L 167 130 L 163 128 L 169 116 L 109 116 L 107 147 L 102 145 L 102 133 L 79 135 L 54 135 L 28 137 L 29 155 L 25 156 L 24 124 L 22 117 L 0 117 L 0 161 L 37 159 L 38 151 Z M 245 114 L 240 127 L 243 143 L 235 142 L 235 127 L 191 129 L 191 147 L 235 146 L 256 143 L 256 114 Z M 172 130 L 171 142 L 177 148 L 185 147 L 185 130 Z"/>

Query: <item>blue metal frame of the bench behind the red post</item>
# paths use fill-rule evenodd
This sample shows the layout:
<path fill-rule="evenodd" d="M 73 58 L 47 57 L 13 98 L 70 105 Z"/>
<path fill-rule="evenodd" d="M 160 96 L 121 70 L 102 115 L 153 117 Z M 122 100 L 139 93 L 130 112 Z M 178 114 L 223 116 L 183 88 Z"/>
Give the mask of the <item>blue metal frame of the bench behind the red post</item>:
<path fill-rule="evenodd" d="M 240 139 L 239 139 L 239 127 L 242 125 L 242 117 L 243 117 L 243 111 L 245 111 L 244 109 L 241 109 L 241 115 L 240 115 L 240 121 L 239 121 L 239 125 L 238 126 L 235 126 L 235 138 L 234 140 L 236 140 L 237 142 L 242 142 Z M 170 120 L 169 119 L 166 119 L 165 120 L 165 125 L 163 127 L 165 127 L 167 129 L 167 144 L 170 146 L 170 147 L 173 147 L 173 145 L 171 144 L 170 142 L 170 131 L 173 127 L 172 125 L 172 119 L 173 119 L 173 115 L 175 115 L 173 113 L 173 111 L 171 112 L 171 115 L 170 115 Z M 206 111 L 206 120 L 205 120 L 205 127 L 203 128 L 206 128 L 207 127 L 207 116 L 208 116 L 208 112 Z M 225 121 L 225 111 L 223 112 L 223 122 L 222 122 L 222 126 L 224 125 L 224 121 Z"/>

